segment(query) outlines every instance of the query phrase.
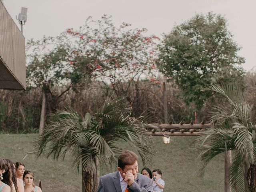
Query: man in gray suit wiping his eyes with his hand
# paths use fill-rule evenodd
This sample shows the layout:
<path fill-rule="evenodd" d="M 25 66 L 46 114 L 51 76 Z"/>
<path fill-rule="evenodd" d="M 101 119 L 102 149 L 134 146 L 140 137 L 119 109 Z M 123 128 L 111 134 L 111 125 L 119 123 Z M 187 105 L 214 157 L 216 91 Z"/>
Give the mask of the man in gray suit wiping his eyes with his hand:
<path fill-rule="evenodd" d="M 97 192 L 153 192 L 153 180 L 138 173 L 138 156 L 124 151 L 118 157 L 118 172 L 100 177 Z"/>

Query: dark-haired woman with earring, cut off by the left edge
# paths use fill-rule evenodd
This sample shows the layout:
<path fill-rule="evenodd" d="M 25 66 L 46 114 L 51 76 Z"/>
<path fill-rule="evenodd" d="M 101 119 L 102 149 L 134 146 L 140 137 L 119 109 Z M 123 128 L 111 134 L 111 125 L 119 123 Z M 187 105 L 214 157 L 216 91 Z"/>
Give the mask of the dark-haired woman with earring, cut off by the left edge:
<path fill-rule="evenodd" d="M 7 180 L 9 180 L 10 183 L 10 181 L 12 180 L 8 169 L 8 162 L 4 158 L 0 157 L 0 192 L 11 192 L 11 188 L 6 182 Z"/>

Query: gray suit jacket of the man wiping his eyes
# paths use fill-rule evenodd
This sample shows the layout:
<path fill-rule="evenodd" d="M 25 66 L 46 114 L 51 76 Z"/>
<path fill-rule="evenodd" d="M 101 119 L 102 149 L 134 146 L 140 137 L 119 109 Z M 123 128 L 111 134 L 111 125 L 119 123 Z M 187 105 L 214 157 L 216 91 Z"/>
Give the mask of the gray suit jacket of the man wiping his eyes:
<path fill-rule="evenodd" d="M 138 174 L 138 177 L 132 184 L 128 186 L 129 192 L 153 192 L 152 179 Z M 122 192 L 119 172 L 109 173 L 100 177 L 100 184 L 97 192 Z"/>

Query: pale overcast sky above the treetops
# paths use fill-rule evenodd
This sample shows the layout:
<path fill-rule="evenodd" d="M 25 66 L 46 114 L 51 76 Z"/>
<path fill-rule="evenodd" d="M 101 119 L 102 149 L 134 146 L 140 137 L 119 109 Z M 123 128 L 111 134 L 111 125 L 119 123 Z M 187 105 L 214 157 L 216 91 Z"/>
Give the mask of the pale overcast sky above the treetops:
<path fill-rule="evenodd" d="M 244 69 L 256 66 L 256 0 L 3 0 L 6 9 L 15 16 L 21 7 L 28 8 L 28 19 L 23 28 L 26 39 L 57 36 L 67 28 L 78 29 L 88 16 L 94 20 L 103 14 L 113 22 L 132 24 L 133 28 L 147 28 L 148 35 L 172 30 L 174 24 L 189 20 L 196 13 L 222 14 L 228 30 L 246 58 Z M 256 70 L 256 69 L 255 69 Z"/>

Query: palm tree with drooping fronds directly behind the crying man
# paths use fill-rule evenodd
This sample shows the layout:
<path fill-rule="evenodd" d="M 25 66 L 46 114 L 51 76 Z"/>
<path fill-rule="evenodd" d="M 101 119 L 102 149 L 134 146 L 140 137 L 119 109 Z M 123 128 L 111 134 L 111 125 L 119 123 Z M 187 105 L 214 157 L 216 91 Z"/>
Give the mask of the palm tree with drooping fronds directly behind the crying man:
<path fill-rule="evenodd" d="M 48 127 L 35 141 L 37 156 L 44 154 L 54 160 L 71 154 L 73 168 L 82 165 L 83 192 L 95 192 L 99 184 L 100 166 L 116 166 L 122 152 L 117 142 L 127 142 L 137 149 L 143 164 L 152 159 L 151 136 L 140 120 L 129 114 L 131 108 L 122 99 L 108 98 L 94 116 L 79 115 L 71 108 L 57 111 Z"/>

